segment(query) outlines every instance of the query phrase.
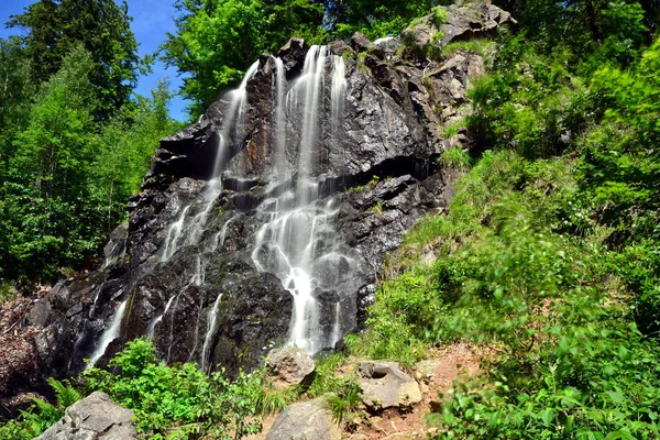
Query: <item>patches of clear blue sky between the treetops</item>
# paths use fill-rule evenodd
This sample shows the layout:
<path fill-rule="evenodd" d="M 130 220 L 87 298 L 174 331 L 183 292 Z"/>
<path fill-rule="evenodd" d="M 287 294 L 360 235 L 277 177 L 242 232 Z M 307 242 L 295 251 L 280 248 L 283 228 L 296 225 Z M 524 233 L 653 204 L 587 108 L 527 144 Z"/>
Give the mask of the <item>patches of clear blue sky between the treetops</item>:
<path fill-rule="evenodd" d="M 0 0 L 0 36 L 6 37 L 21 32 L 19 29 L 6 29 L 4 23 L 10 15 L 20 14 L 23 9 L 36 0 Z M 128 0 L 129 15 L 133 18 L 131 29 L 135 40 L 140 43 L 140 55 L 154 52 L 165 40 L 166 32 L 174 32 L 174 0 Z M 153 66 L 154 73 L 140 77 L 136 92 L 151 96 L 150 89 L 154 88 L 158 79 L 169 78 L 169 87 L 177 91 L 182 84 L 176 75 L 176 69 L 165 69 L 162 63 Z M 169 106 L 169 114 L 179 121 L 186 120 L 186 102 L 175 97 Z"/>

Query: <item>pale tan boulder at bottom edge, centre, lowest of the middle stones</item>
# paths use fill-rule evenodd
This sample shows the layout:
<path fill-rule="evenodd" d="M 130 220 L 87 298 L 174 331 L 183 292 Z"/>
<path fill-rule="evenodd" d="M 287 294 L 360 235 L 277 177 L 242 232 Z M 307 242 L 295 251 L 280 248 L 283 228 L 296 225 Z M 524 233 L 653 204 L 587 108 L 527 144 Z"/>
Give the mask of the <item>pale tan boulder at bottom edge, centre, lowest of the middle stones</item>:
<path fill-rule="evenodd" d="M 319 397 L 288 406 L 273 422 L 266 440 L 340 440 L 341 435 L 324 398 Z"/>

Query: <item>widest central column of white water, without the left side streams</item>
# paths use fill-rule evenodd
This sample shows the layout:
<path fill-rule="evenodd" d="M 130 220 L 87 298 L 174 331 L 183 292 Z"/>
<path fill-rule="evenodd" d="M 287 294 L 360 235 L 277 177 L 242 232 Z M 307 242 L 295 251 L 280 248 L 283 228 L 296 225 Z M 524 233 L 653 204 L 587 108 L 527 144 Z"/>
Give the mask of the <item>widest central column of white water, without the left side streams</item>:
<path fill-rule="evenodd" d="M 266 200 L 260 207 L 264 223 L 256 234 L 252 260 L 257 270 L 271 272 L 282 280 L 294 297 L 294 312 L 288 343 L 310 353 L 333 348 L 341 338 L 339 298 L 332 309 L 331 331 L 321 326 L 321 305 L 318 296 L 341 285 L 349 278 L 351 257 L 336 241 L 334 230 L 338 207 L 334 200 L 319 200 L 319 152 L 323 142 L 320 123 L 326 92 L 326 69 L 328 48 L 311 46 L 302 75 L 286 96 L 286 109 L 278 107 L 278 140 L 286 142 L 280 131 L 285 119 L 301 120 L 298 163 L 295 164 L 297 182 L 294 189 L 277 198 Z M 331 127 L 338 130 L 346 80 L 343 59 L 332 56 L 333 72 L 330 88 Z M 277 64 L 279 65 L 279 63 Z M 283 77 L 277 68 L 277 103 L 283 106 Z M 285 146 L 278 146 L 285 148 Z M 288 164 L 278 155 L 277 169 L 286 169 Z M 345 279 L 344 279 L 345 283 Z M 327 311 L 326 311 L 327 312 Z"/>

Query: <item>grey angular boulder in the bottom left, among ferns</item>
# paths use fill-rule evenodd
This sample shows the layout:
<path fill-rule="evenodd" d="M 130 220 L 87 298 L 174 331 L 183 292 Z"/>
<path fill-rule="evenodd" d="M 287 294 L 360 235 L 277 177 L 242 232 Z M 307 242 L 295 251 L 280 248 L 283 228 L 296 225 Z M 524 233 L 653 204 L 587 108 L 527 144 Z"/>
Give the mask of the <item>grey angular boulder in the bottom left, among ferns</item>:
<path fill-rule="evenodd" d="M 64 417 L 36 440 L 138 439 L 133 411 L 114 405 L 105 393 L 95 392 L 66 408 Z"/>

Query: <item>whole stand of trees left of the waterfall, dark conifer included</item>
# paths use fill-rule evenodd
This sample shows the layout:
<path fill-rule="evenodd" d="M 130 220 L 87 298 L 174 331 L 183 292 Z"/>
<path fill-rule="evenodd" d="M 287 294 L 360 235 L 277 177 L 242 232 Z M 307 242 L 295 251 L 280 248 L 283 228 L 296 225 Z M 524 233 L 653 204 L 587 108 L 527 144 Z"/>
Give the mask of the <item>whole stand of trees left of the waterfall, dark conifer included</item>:
<path fill-rule="evenodd" d="M 179 127 L 166 82 L 131 98 L 144 66 L 125 4 L 78 3 L 37 1 L 0 38 L 0 279 L 23 292 L 98 257 Z"/>

